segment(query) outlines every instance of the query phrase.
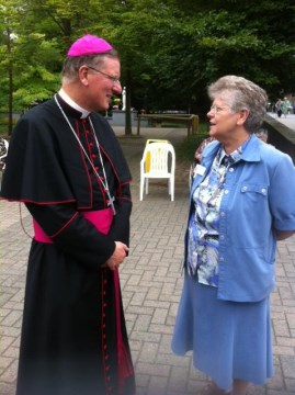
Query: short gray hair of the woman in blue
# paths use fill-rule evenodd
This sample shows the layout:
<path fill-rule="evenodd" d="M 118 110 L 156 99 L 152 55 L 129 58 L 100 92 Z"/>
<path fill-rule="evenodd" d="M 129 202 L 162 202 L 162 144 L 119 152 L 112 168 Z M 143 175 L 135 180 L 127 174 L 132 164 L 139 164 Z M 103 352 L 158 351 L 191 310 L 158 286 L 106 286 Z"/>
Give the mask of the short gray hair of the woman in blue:
<path fill-rule="evenodd" d="M 225 76 L 208 87 L 211 100 L 223 99 L 231 112 L 248 110 L 245 127 L 249 133 L 260 128 L 266 114 L 266 92 L 243 77 Z"/>

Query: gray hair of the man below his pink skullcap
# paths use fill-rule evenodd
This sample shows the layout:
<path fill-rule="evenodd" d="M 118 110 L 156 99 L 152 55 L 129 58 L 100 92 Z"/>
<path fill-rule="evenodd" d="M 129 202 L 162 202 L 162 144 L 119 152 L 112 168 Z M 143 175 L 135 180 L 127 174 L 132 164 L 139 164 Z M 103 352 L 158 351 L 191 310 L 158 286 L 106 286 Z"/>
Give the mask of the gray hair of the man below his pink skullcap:
<path fill-rule="evenodd" d="M 120 59 L 118 53 L 115 49 L 111 49 L 103 54 L 73 57 L 68 56 L 64 61 L 61 70 L 63 81 L 70 82 L 78 79 L 78 70 L 83 65 L 100 68 L 103 66 L 104 60 L 107 57 Z"/>

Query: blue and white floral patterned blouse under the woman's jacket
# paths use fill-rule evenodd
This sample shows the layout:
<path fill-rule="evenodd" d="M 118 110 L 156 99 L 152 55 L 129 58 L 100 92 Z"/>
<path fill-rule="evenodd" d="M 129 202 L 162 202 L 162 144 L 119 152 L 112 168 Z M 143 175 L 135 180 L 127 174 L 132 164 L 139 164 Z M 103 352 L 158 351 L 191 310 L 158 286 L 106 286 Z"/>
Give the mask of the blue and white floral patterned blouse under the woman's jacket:
<path fill-rule="evenodd" d="M 218 286 L 219 210 L 226 172 L 241 157 L 245 145 L 227 155 L 220 148 L 209 173 L 193 193 L 189 222 L 188 271 L 202 284 Z"/>

